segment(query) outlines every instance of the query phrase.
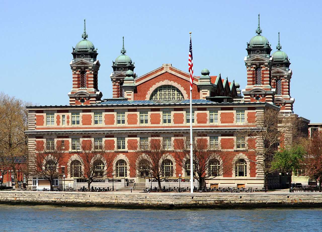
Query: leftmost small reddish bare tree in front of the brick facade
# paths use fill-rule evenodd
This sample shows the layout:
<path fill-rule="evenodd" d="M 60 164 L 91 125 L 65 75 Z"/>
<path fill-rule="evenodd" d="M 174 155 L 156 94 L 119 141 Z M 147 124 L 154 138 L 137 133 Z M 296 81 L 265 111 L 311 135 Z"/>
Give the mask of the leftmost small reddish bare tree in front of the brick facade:
<path fill-rule="evenodd" d="M 36 147 L 35 165 L 31 166 L 29 173 L 32 176 L 39 176 L 49 181 L 50 190 L 53 191 L 53 180 L 62 174 L 59 172 L 59 165 L 63 162 L 64 148 L 61 142 L 46 145 L 39 144 Z"/>

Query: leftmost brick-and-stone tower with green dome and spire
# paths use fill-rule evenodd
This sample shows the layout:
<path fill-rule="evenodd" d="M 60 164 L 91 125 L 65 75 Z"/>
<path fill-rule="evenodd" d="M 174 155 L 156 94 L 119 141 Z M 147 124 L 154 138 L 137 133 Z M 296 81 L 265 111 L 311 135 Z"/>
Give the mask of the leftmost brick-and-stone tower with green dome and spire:
<path fill-rule="evenodd" d="M 73 59 L 70 63 L 73 73 L 73 85 L 68 93 L 70 105 L 89 105 L 101 101 L 103 94 L 98 90 L 98 71 L 100 63 L 96 59 L 97 49 L 87 40 L 84 19 L 83 38 L 73 47 Z"/>

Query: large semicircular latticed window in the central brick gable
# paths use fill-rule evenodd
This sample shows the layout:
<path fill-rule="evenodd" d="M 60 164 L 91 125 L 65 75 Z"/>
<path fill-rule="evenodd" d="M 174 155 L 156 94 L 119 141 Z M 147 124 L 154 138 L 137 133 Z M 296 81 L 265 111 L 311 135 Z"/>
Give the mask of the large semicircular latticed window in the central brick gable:
<path fill-rule="evenodd" d="M 157 87 L 151 94 L 152 101 L 174 101 L 184 100 L 180 90 L 172 85 L 161 85 Z"/>

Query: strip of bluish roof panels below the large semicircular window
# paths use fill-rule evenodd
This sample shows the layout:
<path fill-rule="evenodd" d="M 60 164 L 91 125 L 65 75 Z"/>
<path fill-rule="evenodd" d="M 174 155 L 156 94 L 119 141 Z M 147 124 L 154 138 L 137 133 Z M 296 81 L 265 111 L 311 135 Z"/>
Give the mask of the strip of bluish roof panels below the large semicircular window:
<path fill-rule="evenodd" d="M 204 99 L 192 100 L 193 104 L 213 104 L 215 102 Z M 162 104 L 190 104 L 190 100 L 175 100 L 175 101 L 151 101 L 151 100 L 138 100 L 138 101 L 104 101 L 101 105 L 162 105 Z"/>

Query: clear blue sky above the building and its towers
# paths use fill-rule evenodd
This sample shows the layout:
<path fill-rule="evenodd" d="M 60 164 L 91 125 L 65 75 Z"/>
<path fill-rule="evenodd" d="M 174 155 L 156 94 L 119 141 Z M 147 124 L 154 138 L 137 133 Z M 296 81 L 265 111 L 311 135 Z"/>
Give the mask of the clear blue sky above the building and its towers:
<path fill-rule="evenodd" d="M 125 36 L 127 55 L 141 76 L 163 63 L 187 72 L 189 31 L 194 73 L 208 68 L 246 85 L 246 42 L 263 35 L 290 58 L 294 112 L 320 122 L 321 1 L 1 1 L 0 92 L 41 105 L 68 104 L 72 46 L 83 19 L 98 48 L 99 90 L 112 96 L 109 75 Z"/>

